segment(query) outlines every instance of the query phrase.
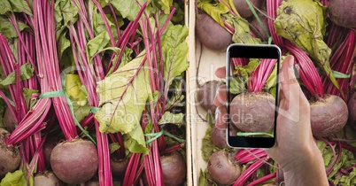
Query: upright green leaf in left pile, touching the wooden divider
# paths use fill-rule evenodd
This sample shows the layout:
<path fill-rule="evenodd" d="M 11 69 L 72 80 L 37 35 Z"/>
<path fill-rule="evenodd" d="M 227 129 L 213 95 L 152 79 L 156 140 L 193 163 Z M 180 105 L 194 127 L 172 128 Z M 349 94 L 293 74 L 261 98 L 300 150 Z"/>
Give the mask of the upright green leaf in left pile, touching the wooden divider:
<path fill-rule="evenodd" d="M 164 61 L 164 80 L 168 85 L 172 83 L 175 77 L 181 75 L 189 67 L 187 60 L 188 28 L 182 25 L 170 24 L 166 27 L 166 32 L 162 35 L 162 53 Z"/>

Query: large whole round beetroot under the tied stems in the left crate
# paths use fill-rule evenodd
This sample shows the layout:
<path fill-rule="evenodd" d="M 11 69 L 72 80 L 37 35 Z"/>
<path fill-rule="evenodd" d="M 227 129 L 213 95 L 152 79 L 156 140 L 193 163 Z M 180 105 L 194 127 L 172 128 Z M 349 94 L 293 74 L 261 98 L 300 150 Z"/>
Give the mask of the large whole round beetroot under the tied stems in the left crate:
<path fill-rule="evenodd" d="M 50 166 L 63 182 L 87 182 L 97 173 L 97 147 L 82 139 L 58 143 L 50 154 Z"/>

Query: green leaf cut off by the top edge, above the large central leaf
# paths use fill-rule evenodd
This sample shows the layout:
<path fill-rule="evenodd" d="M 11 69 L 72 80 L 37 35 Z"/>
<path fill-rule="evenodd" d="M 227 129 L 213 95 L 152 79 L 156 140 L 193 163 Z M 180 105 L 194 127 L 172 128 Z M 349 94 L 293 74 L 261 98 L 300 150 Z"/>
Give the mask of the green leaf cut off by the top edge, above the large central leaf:
<path fill-rule="evenodd" d="M 139 4 L 137 4 L 136 1 Z M 106 2 L 112 4 L 112 6 L 118 12 L 120 12 L 123 18 L 127 18 L 133 21 L 135 20 L 138 12 L 140 12 L 141 5 L 144 4 L 146 1 L 145 0 L 106 0 Z"/>

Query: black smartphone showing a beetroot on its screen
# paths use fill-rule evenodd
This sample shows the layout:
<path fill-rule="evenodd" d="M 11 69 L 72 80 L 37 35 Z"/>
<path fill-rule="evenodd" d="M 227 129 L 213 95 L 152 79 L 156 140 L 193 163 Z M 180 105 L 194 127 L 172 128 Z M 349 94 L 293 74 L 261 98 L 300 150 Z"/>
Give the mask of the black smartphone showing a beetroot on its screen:
<path fill-rule="evenodd" d="M 281 50 L 271 44 L 231 44 L 227 50 L 227 143 L 275 146 Z"/>

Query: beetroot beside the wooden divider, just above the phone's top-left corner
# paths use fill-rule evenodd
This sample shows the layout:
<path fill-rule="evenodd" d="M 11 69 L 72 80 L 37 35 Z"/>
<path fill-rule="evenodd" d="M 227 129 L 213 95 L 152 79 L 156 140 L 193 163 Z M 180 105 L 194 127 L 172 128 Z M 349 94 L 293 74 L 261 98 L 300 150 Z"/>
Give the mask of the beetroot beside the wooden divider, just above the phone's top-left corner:
<path fill-rule="evenodd" d="M 196 35 L 206 48 L 225 51 L 232 43 L 232 35 L 205 12 L 197 11 Z"/>

